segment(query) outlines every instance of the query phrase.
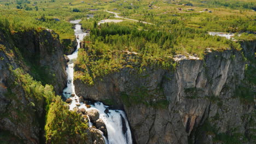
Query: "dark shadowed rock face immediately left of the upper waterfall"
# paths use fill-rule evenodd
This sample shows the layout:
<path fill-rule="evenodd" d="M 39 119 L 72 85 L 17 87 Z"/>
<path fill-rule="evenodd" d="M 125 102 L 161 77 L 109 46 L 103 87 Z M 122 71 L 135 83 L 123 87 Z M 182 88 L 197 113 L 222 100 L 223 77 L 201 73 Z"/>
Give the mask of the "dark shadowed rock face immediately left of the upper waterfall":
<path fill-rule="evenodd" d="M 36 71 L 31 75 L 43 83 L 54 86 L 56 94 L 62 92 L 67 84 L 65 48 L 59 35 L 51 30 L 26 31 L 14 34 L 14 44 L 28 62 L 27 71 Z"/>

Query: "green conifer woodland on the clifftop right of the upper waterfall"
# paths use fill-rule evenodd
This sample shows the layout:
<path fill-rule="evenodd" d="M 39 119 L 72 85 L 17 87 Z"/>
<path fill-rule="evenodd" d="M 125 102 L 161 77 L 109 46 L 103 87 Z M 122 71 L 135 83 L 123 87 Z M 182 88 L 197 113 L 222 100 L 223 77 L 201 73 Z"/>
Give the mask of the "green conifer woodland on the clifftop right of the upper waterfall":
<path fill-rule="evenodd" d="M 79 50 L 75 63 L 75 79 L 89 85 L 94 84 L 96 77 L 122 68 L 138 71 L 147 66 L 172 69 L 176 65 L 172 56 L 179 53 L 203 58 L 206 48 L 240 49 L 234 41 L 178 24 L 159 29 L 155 25 L 127 21 L 100 26 L 92 22 L 89 25 L 91 33 L 84 39 L 85 49 Z"/>

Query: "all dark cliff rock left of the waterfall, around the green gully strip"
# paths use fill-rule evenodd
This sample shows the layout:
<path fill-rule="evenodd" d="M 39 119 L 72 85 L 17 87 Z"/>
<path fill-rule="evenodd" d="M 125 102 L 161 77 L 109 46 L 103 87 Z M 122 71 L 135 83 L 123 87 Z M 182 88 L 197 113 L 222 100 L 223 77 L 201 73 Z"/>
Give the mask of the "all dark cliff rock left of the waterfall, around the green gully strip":
<path fill-rule="evenodd" d="M 43 143 L 45 101 L 28 97 L 21 83 L 14 85 L 11 70 L 30 73 L 59 94 L 67 80 L 59 36 L 47 30 L 11 34 L 0 29 L 0 59 L 1 141 L 4 136 L 8 143 Z"/>

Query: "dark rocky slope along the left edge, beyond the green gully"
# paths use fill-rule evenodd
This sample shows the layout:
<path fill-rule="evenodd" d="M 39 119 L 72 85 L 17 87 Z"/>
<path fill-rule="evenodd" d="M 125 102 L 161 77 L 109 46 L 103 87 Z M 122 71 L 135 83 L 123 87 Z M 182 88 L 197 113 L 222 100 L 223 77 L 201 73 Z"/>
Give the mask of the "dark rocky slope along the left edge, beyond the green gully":
<path fill-rule="evenodd" d="M 15 84 L 11 69 L 25 66 L 11 40 L 8 32 L 0 31 L 0 131 L 5 131 L 4 141 L 8 143 L 39 143 L 43 139 L 40 119 L 44 119 L 44 103 L 26 97 L 22 85 Z"/>

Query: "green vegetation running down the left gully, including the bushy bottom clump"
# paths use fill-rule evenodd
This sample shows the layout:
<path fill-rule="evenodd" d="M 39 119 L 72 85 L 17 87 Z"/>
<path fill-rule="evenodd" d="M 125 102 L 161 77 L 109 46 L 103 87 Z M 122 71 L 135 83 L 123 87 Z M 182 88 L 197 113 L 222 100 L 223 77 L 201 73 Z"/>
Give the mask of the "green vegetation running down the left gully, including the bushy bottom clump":
<path fill-rule="evenodd" d="M 38 109 L 45 107 L 46 111 L 46 124 L 45 124 L 45 137 L 47 143 L 60 143 L 65 141 L 83 141 L 86 140 L 86 133 L 88 131 L 88 123 L 82 121 L 82 117 L 75 112 L 71 112 L 64 105 L 60 96 L 55 96 L 53 87 L 49 85 L 42 86 L 38 81 L 24 73 L 21 69 L 12 70 L 15 76 L 15 81 L 12 85 L 12 90 L 9 89 L 6 93 L 7 97 L 13 100 L 16 94 L 13 93 L 14 89 L 22 87 L 26 98 L 30 103 L 26 106 L 26 110 L 15 107 L 10 108 L 11 111 L 16 110 L 18 116 L 8 114 L 13 121 L 23 122 L 26 121 L 28 115 L 35 113 Z M 19 100 L 17 99 L 19 103 Z M 4 115 L 0 115 L 3 117 Z M 18 118 L 18 119 L 17 119 Z M 42 119 L 41 119 L 42 120 Z M 76 139 L 74 137 L 79 137 Z"/>

